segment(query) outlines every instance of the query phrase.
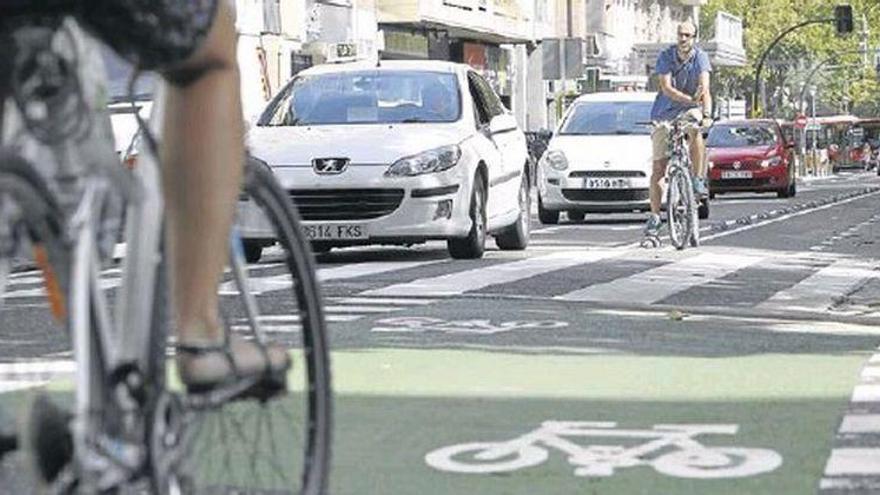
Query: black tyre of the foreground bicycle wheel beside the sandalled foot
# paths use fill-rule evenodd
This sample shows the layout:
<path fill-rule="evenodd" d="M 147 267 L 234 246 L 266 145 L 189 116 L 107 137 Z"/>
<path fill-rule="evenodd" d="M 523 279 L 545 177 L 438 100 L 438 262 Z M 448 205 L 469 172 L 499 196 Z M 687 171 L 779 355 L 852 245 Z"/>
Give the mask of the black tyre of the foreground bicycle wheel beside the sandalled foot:
<path fill-rule="evenodd" d="M 265 164 L 248 161 L 245 191 L 262 203 L 267 218 L 276 227 L 278 243 L 287 252 L 288 268 L 298 282 L 293 289 L 301 308 L 303 355 L 307 358 L 309 380 L 308 440 L 301 494 L 322 495 L 327 491 L 330 469 L 333 413 L 330 355 L 315 262 L 290 196 Z"/>

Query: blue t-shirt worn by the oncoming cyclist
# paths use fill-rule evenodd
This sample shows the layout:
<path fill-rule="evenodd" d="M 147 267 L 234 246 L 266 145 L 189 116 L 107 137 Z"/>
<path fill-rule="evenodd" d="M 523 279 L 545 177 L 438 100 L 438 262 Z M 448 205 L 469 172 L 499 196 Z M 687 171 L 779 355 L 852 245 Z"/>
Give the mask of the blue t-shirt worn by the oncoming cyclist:
<path fill-rule="evenodd" d="M 693 95 L 697 92 L 697 86 L 700 85 L 700 74 L 703 72 L 712 72 L 712 64 L 709 63 L 709 56 L 706 55 L 706 52 L 694 47 L 691 56 L 684 62 L 680 62 L 678 48 L 675 45 L 660 52 L 660 56 L 657 57 L 657 68 L 654 70 L 658 76 L 671 74 L 672 87 L 686 95 Z M 651 120 L 672 120 L 682 112 L 696 107 L 697 105 L 693 103 L 675 101 L 663 94 L 663 91 L 658 91 L 657 97 L 654 99 L 654 106 L 651 107 Z"/>

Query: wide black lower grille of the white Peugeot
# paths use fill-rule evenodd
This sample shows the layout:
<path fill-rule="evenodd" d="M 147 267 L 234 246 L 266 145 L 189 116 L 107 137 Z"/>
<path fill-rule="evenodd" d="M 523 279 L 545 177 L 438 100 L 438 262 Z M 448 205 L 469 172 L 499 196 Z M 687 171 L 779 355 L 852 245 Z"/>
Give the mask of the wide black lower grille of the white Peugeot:
<path fill-rule="evenodd" d="M 294 189 L 303 220 L 367 220 L 388 215 L 403 201 L 403 189 Z"/>

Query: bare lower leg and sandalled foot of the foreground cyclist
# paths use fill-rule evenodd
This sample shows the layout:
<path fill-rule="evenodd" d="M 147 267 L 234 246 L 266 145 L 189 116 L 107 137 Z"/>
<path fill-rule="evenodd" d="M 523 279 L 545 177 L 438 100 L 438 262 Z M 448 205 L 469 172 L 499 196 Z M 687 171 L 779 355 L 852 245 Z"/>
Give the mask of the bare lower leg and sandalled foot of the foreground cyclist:
<path fill-rule="evenodd" d="M 163 122 L 162 185 L 178 365 L 188 385 L 210 387 L 235 375 L 284 369 L 283 349 L 224 341 L 217 285 L 241 187 L 244 134 L 234 14 L 221 1 L 199 50 L 165 73 L 171 82 Z M 269 357 L 269 362 L 266 357 Z M 230 360 L 234 360 L 234 363 Z"/>

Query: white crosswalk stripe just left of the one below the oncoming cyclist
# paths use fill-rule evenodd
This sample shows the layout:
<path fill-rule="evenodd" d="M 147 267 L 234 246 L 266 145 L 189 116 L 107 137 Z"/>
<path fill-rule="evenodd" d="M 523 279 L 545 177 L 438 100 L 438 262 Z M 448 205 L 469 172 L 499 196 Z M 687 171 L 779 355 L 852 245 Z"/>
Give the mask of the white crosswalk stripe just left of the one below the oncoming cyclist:
<path fill-rule="evenodd" d="M 559 251 L 510 263 L 481 267 L 361 292 L 363 296 L 449 296 L 490 285 L 515 282 L 542 273 L 596 262 L 628 252 L 624 249 Z"/>

